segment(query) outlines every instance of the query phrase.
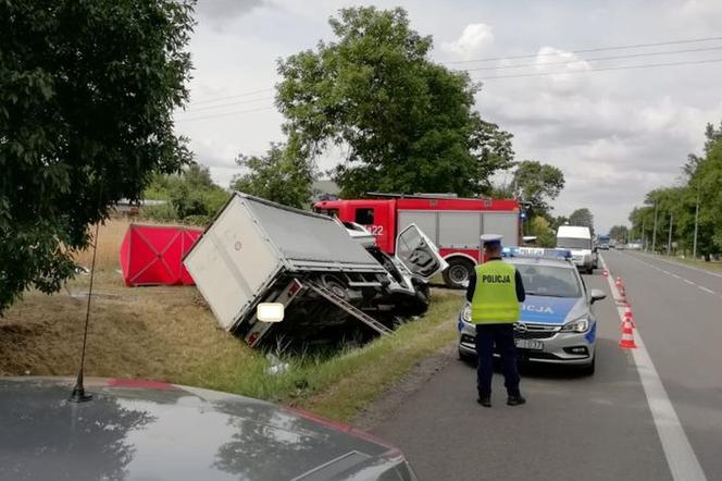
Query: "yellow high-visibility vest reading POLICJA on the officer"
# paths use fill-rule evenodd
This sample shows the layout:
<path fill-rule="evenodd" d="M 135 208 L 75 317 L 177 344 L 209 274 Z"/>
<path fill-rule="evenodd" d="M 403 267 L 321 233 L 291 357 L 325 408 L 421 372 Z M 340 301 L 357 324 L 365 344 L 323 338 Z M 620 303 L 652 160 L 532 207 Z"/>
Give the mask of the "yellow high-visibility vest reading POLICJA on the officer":
<path fill-rule="evenodd" d="M 476 287 L 471 301 L 474 324 L 513 324 L 519 321 L 516 269 L 502 260 L 476 266 Z"/>

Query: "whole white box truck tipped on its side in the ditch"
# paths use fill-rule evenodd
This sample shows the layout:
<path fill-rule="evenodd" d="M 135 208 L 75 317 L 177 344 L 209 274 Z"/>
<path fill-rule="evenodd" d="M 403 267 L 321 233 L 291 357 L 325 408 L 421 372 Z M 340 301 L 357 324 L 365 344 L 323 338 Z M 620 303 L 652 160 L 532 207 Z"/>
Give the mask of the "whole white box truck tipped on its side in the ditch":
<path fill-rule="evenodd" d="M 390 258 L 361 226 L 234 193 L 184 264 L 219 323 L 251 346 L 309 342 L 359 325 L 388 334 L 426 310 L 426 281 L 446 262 L 415 225 L 398 245 Z M 282 303 L 284 321 L 259 321 L 260 303 Z"/>

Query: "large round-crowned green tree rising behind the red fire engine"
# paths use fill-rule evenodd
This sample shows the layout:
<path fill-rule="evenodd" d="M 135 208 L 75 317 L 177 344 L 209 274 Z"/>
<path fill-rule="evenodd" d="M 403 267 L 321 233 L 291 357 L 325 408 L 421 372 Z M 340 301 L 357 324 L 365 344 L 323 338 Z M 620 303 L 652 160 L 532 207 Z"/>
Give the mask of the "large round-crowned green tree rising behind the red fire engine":
<path fill-rule="evenodd" d="M 334 171 L 346 197 L 370 190 L 488 192 L 489 175 L 511 165 L 511 134 L 474 110 L 480 86 L 465 72 L 428 60 L 400 8 L 340 11 L 335 41 L 279 61 L 276 104 L 298 151 L 348 151 Z"/>

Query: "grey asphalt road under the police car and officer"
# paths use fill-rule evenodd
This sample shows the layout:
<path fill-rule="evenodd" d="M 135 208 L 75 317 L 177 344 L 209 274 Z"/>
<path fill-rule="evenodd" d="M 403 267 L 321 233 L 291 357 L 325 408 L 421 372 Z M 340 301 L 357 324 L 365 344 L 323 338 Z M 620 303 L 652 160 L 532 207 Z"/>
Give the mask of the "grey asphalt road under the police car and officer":
<path fill-rule="evenodd" d="M 373 432 L 422 480 L 722 480 L 722 276 L 639 252 L 602 256 L 626 284 L 640 349 L 618 347 L 600 270 L 585 276 L 609 295 L 594 307 L 594 377 L 526 369 L 527 404 L 509 407 L 497 373 L 485 409 L 474 367 L 455 360 Z"/>

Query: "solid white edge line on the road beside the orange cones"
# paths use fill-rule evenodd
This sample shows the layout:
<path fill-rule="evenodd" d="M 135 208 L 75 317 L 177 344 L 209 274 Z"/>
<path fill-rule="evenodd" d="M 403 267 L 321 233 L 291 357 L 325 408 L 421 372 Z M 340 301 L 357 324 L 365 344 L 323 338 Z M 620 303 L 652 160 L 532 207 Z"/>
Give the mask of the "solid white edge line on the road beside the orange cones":
<path fill-rule="evenodd" d="M 605 262 L 605 259 L 601 256 L 599 256 L 599 259 L 601 260 L 602 267 L 607 269 L 607 262 Z M 611 279 L 611 275 L 607 278 L 609 288 L 612 292 L 612 296 L 619 297 L 619 292 Z M 620 320 L 623 320 L 624 308 L 618 307 L 617 310 Z M 689 444 L 689 440 L 684 432 L 684 428 L 682 428 L 682 423 L 674 410 L 674 406 L 667 395 L 661 379 L 659 379 L 655 363 L 649 357 L 649 353 L 645 347 L 639 331 L 635 330 L 634 335 L 637 348 L 632 349 L 632 357 L 637 367 L 645 396 L 647 396 L 649 411 L 655 420 L 657 434 L 659 434 L 659 440 L 662 443 L 662 449 L 664 449 L 664 456 L 667 457 L 667 464 L 670 467 L 672 479 L 675 481 L 706 481 L 707 477 L 705 476 L 705 471 L 702 471 L 702 468 L 699 465 L 697 455 L 695 455 L 695 452 Z"/>

